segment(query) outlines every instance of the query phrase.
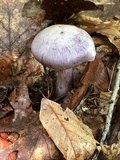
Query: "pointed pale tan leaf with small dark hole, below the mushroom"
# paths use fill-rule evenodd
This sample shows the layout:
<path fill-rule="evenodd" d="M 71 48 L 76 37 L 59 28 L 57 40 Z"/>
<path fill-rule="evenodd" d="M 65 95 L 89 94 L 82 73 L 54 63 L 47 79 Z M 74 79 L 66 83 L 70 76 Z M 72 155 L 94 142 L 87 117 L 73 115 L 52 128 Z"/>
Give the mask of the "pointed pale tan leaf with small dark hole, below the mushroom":
<path fill-rule="evenodd" d="M 40 121 L 66 160 L 84 160 L 94 153 L 97 141 L 91 129 L 68 108 L 63 111 L 60 104 L 43 98 Z"/>

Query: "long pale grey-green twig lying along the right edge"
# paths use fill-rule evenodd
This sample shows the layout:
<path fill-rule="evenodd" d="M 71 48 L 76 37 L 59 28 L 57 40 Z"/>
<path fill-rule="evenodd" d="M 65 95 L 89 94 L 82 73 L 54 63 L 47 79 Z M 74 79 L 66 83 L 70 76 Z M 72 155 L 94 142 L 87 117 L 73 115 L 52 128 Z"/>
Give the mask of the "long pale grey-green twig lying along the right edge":
<path fill-rule="evenodd" d="M 113 88 L 113 92 L 109 101 L 109 110 L 108 110 L 108 114 L 106 117 L 106 122 L 105 122 L 105 128 L 102 134 L 102 138 L 100 140 L 100 143 L 103 144 L 107 134 L 109 133 L 110 130 L 110 125 L 111 125 L 111 120 L 112 120 L 112 115 L 113 115 L 113 110 L 114 110 L 114 106 L 116 104 L 116 97 L 117 97 L 117 93 L 118 90 L 120 88 L 120 59 L 118 60 L 118 64 L 117 64 L 117 73 L 116 73 L 116 79 L 115 79 L 115 85 Z"/>

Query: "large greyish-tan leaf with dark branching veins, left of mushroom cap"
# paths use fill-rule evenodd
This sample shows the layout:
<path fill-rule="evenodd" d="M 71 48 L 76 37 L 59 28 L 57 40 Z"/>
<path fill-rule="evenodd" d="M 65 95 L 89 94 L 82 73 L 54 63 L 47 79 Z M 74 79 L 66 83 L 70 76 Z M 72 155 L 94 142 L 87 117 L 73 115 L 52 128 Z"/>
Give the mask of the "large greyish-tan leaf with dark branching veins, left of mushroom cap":
<path fill-rule="evenodd" d="M 25 42 L 35 35 L 40 27 L 34 20 L 22 16 L 28 0 L 1 0 L 0 2 L 0 49 L 23 50 Z M 43 20 L 42 15 L 41 20 Z"/>

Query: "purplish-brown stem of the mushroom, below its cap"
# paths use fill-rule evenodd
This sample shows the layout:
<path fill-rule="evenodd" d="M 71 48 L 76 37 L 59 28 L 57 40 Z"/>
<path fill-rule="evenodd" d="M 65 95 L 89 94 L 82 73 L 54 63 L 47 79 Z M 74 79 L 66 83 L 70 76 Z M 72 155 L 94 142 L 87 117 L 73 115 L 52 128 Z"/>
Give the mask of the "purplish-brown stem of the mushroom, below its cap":
<path fill-rule="evenodd" d="M 56 96 L 58 97 L 72 89 L 73 69 L 59 70 L 57 74 Z"/>

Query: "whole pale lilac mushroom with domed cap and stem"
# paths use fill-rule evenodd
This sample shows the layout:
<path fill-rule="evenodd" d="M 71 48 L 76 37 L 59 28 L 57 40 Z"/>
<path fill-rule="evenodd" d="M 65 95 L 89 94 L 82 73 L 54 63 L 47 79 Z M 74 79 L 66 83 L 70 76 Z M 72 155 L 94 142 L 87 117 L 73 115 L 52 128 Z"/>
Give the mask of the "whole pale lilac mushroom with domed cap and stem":
<path fill-rule="evenodd" d="M 31 49 L 41 64 L 57 71 L 56 96 L 71 90 L 73 67 L 93 61 L 96 55 L 94 42 L 85 30 L 64 24 L 40 31 Z"/>

